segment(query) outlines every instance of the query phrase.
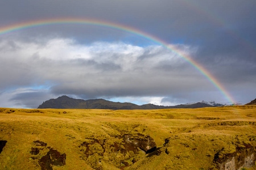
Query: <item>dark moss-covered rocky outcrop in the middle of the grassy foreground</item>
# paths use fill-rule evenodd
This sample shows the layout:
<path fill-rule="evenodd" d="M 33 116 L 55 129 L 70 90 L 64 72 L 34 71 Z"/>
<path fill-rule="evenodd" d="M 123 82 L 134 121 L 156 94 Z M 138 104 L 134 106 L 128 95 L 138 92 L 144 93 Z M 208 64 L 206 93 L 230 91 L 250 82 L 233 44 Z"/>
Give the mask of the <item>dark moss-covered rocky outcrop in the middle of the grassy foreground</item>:
<path fill-rule="evenodd" d="M 150 135 L 126 133 L 108 139 L 88 138 L 79 148 L 82 159 L 94 169 L 102 169 L 101 161 L 106 159 L 124 168 L 137 161 L 135 155 L 153 152 L 156 143 Z"/>

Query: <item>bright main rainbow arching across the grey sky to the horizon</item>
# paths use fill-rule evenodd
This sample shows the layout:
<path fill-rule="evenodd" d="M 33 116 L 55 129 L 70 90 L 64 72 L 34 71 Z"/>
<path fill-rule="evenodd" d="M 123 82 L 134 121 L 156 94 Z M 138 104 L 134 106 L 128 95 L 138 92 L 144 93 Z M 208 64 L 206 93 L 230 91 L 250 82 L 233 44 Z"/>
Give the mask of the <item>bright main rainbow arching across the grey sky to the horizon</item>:
<path fill-rule="evenodd" d="M 209 71 L 207 71 L 203 66 L 201 66 L 199 63 L 194 61 L 188 54 L 181 52 L 181 50 L 177 49 L 175 46 L 170 45 L 167 42 L 164 42 L 163 40 L 160 40 L 158 37 L 149 35 L 146 32 L 142 32 L 139 29 L 129 27 L 127 25 L 117 24 L 113 22 L 106 22 L 103 20 L 96 20 L 96 19 L 79 19 L 79 18 L 43 19 L 43 20 L 32 20 L 30 22 L 22 22 L 22 23 L 2 27 L 0 28 L 0 36 L 6 33 L 19 31 L 26 28 L 34 28 L 34 27 L 40 27 L 45 25 L 56 25 L 56 24 L 96 25 L 100 27 L 113 28 L 113 29 L 132 33 L 134 35 L 143 37 L 144 39 L 155 42 L 156 44 L 162 45 L 164 46 L 164 48 L 171 50 L 171 52 L 175 53 L 177 56 L 182 57 L 183 59 L 185 59 L 185 61 L 187 61 L 193 67 L 195 67 L 196 70 L 198 70 L 201 74 L 203 74 L 205 78 L 207 78 L 209 82 L 212 83 L 213 86 L 215 86 L 221 92 L 221 94 L 225 96 L 225 98 L 230 102 L 230 104 L 235 103 L 235 100 L 228 93 L 228 91 L 225 90 L 222 84 L 218 82 L 218 80 L 214 78 L 214 76 L 211 75 Z"/>

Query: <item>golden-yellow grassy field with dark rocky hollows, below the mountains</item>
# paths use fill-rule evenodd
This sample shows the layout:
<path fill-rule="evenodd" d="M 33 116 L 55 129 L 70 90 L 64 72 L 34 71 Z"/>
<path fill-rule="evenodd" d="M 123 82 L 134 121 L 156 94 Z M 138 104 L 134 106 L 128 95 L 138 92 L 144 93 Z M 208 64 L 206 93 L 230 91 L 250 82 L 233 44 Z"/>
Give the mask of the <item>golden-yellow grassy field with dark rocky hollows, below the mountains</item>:
<path fill-rule="evenodd" d="M 256 158 L 256 105 L 0 108 L 0 130 L 0 169 L 221 169 Z"/>

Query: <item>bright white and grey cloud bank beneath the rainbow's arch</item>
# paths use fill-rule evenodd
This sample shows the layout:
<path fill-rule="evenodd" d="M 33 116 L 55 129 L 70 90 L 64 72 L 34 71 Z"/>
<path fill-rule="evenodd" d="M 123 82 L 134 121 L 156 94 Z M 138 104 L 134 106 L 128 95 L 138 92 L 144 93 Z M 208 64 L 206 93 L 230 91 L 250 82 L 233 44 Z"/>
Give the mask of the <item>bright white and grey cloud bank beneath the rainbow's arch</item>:
<path fill-rule="evenodd" d="M 178 45 L 184 52 L 189 46 Z M 178 91 L 212 90 L 209 82 L 177 54 L 159 45 L 146 47 L 125 42 L 78 44 L 72 39 L 51 39 L 43 44 L 2 41 L 1 88 L 37 87 L 48 84 L 46 92 L 20 92 L 11 100 L 35 95 L 61 94 L 98 97 L 162 96 Z M 8 70 L 8 71 L 5 71 Z M 196 80 L 196 81 L 195 81 Z M 207 84 L 199 87 L 199 84 Z M 24 97 L 25 98 L 25 97 Z M 156 100 L 157 99 L 157 100 Z M 149 101 L 149 100 L 148 100 Z M 29 101 L 30 102 L 30 101 Z M 28 103 L 23 103 L 29 105 Z M 35 105 L 31 103 L 29 106 Z"/>

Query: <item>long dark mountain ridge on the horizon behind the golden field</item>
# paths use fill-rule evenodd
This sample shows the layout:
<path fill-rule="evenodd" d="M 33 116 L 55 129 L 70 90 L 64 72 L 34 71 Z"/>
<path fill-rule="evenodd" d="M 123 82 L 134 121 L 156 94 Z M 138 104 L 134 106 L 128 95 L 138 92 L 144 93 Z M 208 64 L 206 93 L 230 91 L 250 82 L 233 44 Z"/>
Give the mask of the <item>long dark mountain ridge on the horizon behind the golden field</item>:
<path fill-rule="evenodd" d="M 180 104 L 175 106 L 163 106 L 154 104 L 144 104 L 137 105 L 133 103 L 120 103 L 113 102 L 104 99 L 73 99 L 68 96 L 61 96 L 57 99 L 50 99 L 44 101 L 43 104 L 39 105 L 38 109 L 168 109 L 168 108 L 204 108 L 204 107 L 214 107 L 213 105 L 207 103 L 194 103 L 194 104 Z"/>

